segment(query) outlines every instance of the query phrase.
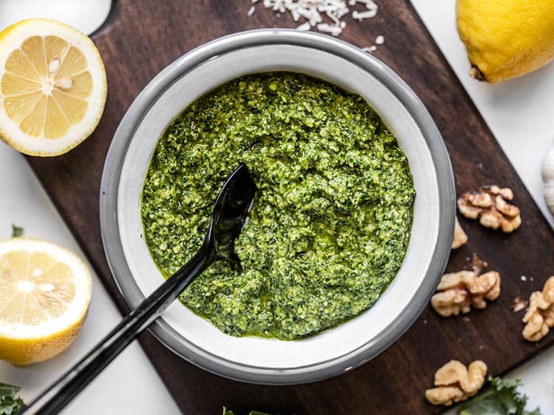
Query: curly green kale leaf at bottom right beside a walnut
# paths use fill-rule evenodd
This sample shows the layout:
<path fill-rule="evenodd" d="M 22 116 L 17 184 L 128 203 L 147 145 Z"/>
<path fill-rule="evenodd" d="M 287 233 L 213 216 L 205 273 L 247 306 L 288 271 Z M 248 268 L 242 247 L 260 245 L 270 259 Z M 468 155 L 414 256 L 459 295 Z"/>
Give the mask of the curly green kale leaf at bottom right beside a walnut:
<path fill-rule="evenodd" d="M 461 405 L 459 415 L 541 415 L 526 411 L 527 396 L 517 391 L 519 380 L 492 378 L 490 387 Z"/>

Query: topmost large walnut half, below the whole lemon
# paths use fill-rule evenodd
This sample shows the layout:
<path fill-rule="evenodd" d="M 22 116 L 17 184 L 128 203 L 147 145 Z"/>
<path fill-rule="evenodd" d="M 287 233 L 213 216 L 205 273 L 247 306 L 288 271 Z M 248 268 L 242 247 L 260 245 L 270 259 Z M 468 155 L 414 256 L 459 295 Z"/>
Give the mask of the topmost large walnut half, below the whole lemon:
<path fill-rule="evenodd" d="M 486 228 L 513 232 L 521 225 L 519 208 L 508 203 L 512 190 L 496 185 L 483 186 L 479 192 L 465 192 L 458 198 L 458 210 L 469 219 L 479 219 Z"/>

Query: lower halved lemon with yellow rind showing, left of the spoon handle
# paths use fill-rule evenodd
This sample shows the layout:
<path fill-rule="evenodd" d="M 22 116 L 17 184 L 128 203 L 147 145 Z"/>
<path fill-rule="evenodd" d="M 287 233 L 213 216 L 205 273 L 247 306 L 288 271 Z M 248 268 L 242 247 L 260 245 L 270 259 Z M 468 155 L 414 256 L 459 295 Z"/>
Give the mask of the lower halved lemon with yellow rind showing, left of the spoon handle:
<path fill-rule="evenodd" d="M 91 299 L 89 268 L 53 243 L 0 242 L 0 359 L 42 362 L 75 340 Z"/>

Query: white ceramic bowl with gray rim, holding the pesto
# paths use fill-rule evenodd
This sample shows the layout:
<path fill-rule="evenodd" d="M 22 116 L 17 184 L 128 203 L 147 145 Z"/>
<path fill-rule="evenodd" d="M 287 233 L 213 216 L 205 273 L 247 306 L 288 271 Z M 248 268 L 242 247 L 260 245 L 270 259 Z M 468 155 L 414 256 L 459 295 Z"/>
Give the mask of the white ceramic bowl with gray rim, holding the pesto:
<path fill-rule="evenodd" d="M 266 71 L 307 73 L 357 93 L 395 133 L 417 191 L 402 268 L 368 311 L 303 340 L 233 338 L 177 301 L 150 330 L 175 353 L 222 376 L 310 382 L 367 362 L 404 333 L 434 292 L 452 242 L 454 179 L 443 140 L 417 96 L 382 62 L 337 39 L 281 29 L 238 33 L 184 55 L 146 86 L 116 131 L 102 176 L 102 239 L 121 293 L 137 306 L 163 282 L 142 237 L 140 214 L 157 141 L 200 96 L 240 75 Z"/>

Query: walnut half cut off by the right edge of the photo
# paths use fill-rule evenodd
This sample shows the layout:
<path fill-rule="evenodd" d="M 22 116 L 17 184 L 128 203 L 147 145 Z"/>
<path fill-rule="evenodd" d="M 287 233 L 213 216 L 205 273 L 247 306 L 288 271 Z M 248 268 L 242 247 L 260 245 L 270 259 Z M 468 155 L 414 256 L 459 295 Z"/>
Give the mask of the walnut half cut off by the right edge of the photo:
<path fill-rule="evenodd" d="M 531 294 L 523 322 L 521 335 L 530 342 L 538 342 L 554 327 L 554 276 L 546 280 L 542 291 Z"/>

